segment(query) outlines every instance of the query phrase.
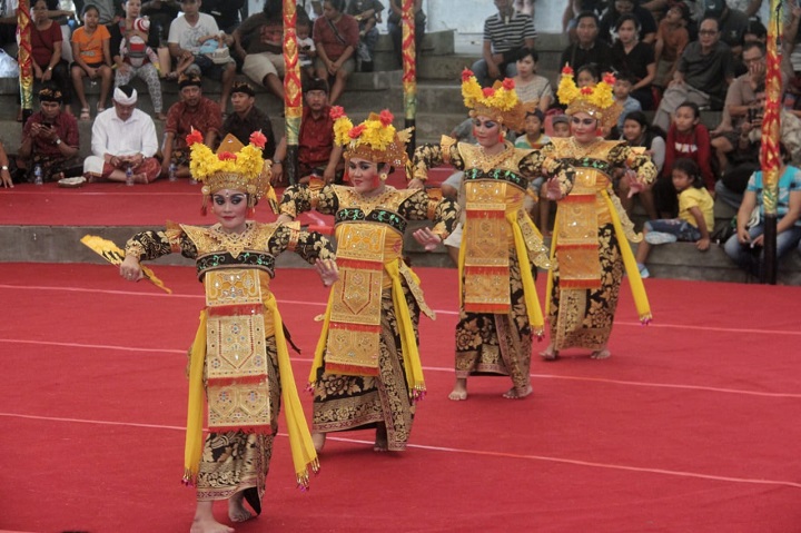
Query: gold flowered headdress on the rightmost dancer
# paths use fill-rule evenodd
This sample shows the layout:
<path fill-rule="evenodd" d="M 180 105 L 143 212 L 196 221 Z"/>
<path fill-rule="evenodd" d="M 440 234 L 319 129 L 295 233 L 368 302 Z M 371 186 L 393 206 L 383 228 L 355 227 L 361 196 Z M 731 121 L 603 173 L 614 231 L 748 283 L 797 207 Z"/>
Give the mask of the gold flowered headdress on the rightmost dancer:
<path fill-rule="evenodd" d="M 617 117 L 623 110 L 621 106 L 614 101 L 612 93 L 614 83 L 614 76 L 606 72 L 597 85 L 593 87 L 582 87 L 580 89 L 573 80 L 573 69 L 570 65 L 565 65 L 562 69 L 562 79 L 560 80 L 556 96 L 562 103 L 567 105 L 565 113 L 574 115 L 584 111 L 591 117 L 596 118 L 601 122 L 601 126 L 611 128 L 617 124 Z"/>

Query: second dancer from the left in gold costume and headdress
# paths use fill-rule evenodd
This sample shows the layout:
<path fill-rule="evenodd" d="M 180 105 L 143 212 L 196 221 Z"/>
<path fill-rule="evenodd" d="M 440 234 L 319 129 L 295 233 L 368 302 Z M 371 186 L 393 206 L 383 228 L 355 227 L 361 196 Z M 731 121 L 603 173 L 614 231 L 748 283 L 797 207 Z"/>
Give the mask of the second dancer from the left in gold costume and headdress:
<path fill-rule="evenodd" d="M 407 167 L 408 131 L 395 131 L 384 110 L 354 127 L 340 107 L 332 109 L 335 142 L 345 147 L 352 186 L 288 187 L 279 220 L 316 209 L 335 217 L 342 279 L 332 289 L 309 381 L 314 385 L 313 438 L 327 433 L 376 428 L 376 452 L 399 452 L 412 431 L 415 401 L 425 393 L 417 349 L 423 300 L 417 276 L 403 260 L 408 220 L 434 219 L 414 233 L 434 249 L 456 225 L 453 200 L 432 200 L 419 189 L 386 185 L 393 167 Z"/>

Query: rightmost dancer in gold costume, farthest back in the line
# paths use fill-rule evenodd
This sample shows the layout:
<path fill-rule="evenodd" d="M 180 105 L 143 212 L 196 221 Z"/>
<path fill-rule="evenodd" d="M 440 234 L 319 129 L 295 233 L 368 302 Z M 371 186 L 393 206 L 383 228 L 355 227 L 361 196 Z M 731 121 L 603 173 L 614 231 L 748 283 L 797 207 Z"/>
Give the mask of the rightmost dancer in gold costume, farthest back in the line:
<path fill-rule="evenodd" d="M 551 323 L 551 344 L 540 355 L 555 359 L 558 352 L 580 346 L 592 357 L 610 356 L 607 347 L 612 322 L 617 307 L 617 294 L 625 265 L 634 302 L 644 323 L 651 319 L 645 289 L 636 268 L 629 240 L 639 241 L 641 235 L 625 215 L 612 191 L 614 167 L 634 170 L 629 191 L 640 193 L 653 182 L 656 167 L 647 156 L 636 155 L 619 140 L 599 137 L 602 127 L 614 125 L 620 108 L 614 106 L 614 78 L 606 75 L 594 87 L 580 89 L 573 81 L 573 70 L 562 70 L 560 101 L 567 103 L 573 136 L 552 139 L 543 147 L 551 157 L 570 161 L 575 167 L 575 181 L 556 211 L 551 243 L 554 267 L 548 274 L 550 302 L 546 314 Z M 555 189 L 557 184 L 553 184 Z"/>

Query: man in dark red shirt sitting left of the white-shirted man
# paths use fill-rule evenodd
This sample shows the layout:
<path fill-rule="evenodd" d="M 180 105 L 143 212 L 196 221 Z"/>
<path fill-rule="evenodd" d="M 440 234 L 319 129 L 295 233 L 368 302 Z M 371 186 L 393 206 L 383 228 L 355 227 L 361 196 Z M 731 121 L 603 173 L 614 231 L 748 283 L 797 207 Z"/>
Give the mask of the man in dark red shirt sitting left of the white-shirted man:
<path fill-rule="evenodd" d="M 78 165 L 78 121 L 61 110 L 62 102 L 61 90 L 53 83 L 44 83 L 39 90 L 39 111 L 31 115 L 22 128 L 17 166 L 27 170 L 29 182 L 33 182 L 37 167 L 44 181 L 58 181 Z"/>

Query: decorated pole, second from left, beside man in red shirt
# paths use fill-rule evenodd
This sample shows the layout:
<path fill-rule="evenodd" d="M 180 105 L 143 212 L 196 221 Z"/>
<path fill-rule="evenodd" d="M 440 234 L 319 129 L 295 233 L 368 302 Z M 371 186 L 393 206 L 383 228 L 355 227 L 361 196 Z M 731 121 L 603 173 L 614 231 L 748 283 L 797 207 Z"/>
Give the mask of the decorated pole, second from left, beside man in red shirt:
<path fill-rule="evenodd" d="M 298 180 L 298 136 L 303 117 L 303 89 L 300 85 L 300 63 L 298 62 L 296 0 L 284 0 L 284 116 L 287 138 L 287 154 L 284 162 L 290 185 Z"/>

